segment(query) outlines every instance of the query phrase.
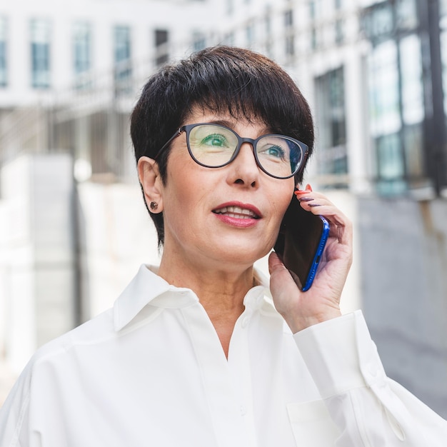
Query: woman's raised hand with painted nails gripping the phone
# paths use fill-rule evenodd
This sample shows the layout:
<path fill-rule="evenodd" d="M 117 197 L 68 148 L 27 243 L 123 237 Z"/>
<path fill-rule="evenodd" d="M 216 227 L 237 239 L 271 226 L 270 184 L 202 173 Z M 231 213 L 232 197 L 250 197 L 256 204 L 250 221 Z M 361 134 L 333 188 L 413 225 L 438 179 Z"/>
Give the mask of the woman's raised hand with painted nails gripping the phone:
<path fill-rule="evenodd" d="M 352 263 L 351 221 L 310 186 L 296 196 L 303 209 L 329 221 L 330 231 L 316 277 L 306 292 L 299 290 L 276 253 L 268 258 L 273 302 L 293 333 L 341 315 L 341 291 Z"/>

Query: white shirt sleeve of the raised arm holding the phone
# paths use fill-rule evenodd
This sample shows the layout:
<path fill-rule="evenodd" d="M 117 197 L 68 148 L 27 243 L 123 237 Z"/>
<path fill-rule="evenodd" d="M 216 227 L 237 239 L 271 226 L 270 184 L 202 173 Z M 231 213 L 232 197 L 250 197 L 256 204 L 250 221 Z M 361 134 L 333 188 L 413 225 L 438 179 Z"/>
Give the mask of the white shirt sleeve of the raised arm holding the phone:
<path fill-rule="evenodd" d="M 293 338 L 341 433 L 334 446 L 446 446 L 447 421 L 386 376 L 361 311 Z"/>

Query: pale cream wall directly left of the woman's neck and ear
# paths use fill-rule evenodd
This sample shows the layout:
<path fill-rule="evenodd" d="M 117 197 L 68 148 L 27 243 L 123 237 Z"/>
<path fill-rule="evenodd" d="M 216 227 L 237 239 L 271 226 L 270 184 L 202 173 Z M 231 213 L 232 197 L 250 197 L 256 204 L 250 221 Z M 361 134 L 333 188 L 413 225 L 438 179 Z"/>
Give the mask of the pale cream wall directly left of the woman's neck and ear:
<path fill-rule="evenodd" d="M 156 230 L 137 184 L 79 184 L 82 320 L 111 307 L 141 263 L 158 265 Z"/>

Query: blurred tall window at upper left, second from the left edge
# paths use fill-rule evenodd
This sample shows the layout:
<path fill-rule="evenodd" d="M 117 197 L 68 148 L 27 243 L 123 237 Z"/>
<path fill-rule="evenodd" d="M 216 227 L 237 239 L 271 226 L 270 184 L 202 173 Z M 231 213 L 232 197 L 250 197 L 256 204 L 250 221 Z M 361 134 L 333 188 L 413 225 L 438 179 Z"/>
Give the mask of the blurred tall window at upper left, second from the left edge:
<path fill-rule="evenodd" d="M 50 86 L 51 25 L 46 19 L 32 19 L 31 27 L 31 86 L 48 89 Z"/>

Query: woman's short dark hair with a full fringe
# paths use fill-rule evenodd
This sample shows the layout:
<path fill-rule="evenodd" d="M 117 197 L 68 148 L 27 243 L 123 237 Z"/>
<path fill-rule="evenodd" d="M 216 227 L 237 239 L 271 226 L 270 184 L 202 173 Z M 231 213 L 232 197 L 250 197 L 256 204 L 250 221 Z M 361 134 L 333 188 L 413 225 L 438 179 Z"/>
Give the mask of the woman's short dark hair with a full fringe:
<path fill-rule="evenodd" d="M 313 120 L 306 99 L 291 77 L 262 54 L 234 46 L 214 46 L 164 66 L 149 78 L 131 114 L 136 161 L 154 158 L 194 107 L 261 119 L 276 134 L 291 136 L 313 149 Z M 165 183 L 170 148 L 157 157 Z M 301 182 L 303 169 L 297 174 Z M 146 204 L 147 207 L 147 204 Z M 164 243 L 163 213 L 150 213 Z"/>

